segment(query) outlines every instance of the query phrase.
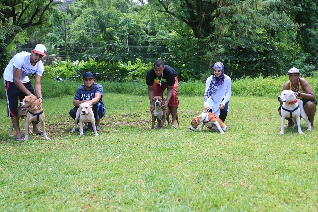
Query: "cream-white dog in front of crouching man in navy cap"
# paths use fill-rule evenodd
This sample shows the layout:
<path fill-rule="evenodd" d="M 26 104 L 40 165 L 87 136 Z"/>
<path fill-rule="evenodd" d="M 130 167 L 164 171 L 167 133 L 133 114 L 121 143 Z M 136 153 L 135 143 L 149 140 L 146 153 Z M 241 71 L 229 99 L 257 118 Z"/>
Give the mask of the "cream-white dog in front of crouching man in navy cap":
<path fill-rule="evenodd" d="M 95 124 L 95 117 L 94 117 L 94 112 L 92 110 L 93 105 L 87 102 L 81 103 L 79 105 L 78 110 L 76 111 L 76 117 L 74 120 L 74 128 L 71 130 L 71 132 L 75 131 L 76 124 L 79 121 L 79 126 L 80 126 L 80 136 L 84 135 L 83 132 L 83 124 L 85 122 L 91 122 L 91 125 L 93 127 L 95 136 L 98 136 L 97 130 L 96 130 L 96 124 Z"/>

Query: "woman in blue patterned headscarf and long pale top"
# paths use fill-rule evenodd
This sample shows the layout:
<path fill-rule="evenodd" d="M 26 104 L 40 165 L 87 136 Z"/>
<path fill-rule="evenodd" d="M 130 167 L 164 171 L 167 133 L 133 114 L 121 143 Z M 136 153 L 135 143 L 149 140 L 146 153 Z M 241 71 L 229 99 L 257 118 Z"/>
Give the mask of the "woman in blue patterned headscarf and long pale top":
<path fill-rule="evenodd" d="M 224 65 L 216 62 L 213 75 L 205 83 L 204 111 L 215 113 L 224 122 L 229 111 L 231 94 L 231 78 L 224 74 Z"/>

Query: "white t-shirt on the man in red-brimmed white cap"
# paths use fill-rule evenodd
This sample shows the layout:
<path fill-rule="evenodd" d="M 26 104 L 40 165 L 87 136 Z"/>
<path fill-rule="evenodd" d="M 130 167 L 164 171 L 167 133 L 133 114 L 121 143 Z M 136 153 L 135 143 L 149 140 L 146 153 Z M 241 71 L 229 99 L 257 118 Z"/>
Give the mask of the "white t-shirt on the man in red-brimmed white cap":
<path fill-rule="evenodd" d="M 44 66 L 42 61 L 37 62 L 35 66 L 33 66 L 30 63 L 30 55 L 31 53 L 29 52 L 20 52 L 14 55 L 4 70 L 3 79 L 9 82 L 13 82 L 13 66 L 15 66 L 18 69 L 21 69 L 20 80 L 22 83 L 30 81 L 28 75 L 36 73 L 42 76 L 44 72 Z"/>

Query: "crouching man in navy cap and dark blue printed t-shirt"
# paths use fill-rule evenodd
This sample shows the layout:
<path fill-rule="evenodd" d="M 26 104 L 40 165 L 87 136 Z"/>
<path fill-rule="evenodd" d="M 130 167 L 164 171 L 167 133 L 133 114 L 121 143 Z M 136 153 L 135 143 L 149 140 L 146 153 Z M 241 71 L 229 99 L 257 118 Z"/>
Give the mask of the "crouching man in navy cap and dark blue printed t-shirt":
<path fill-rule="evenodd" d="M 84 84 L 80 85 L 74 96 L 73 105 L 74 108 L 70 110 L 70 116 L 75 119 L 76 111 L 79 105 L 83 102 L 91 103 L 93 105 L 93 111 L 95 116 L 96 130 L 100 130 L 100 119 L 105 115 L 106 108 L 103 102 L 103 86 L 95 82 L 94 75 L 90 72 L 83 75 Z M 91 128 L 91 123 L 84 129 Z"/>

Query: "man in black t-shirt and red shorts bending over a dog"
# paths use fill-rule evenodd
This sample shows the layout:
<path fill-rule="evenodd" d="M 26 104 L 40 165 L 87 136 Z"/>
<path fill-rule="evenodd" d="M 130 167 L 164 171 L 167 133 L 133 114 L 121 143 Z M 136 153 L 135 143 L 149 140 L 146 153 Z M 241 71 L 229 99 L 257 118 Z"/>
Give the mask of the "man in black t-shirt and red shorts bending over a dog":
<path fill-rule="evenodd" d="M 155 109 L 151 104 L 153 97 L 163 96 L 165 89 L 168 90 L 167 98 L 162 108 L 167 109 L 170 107 L 172 125 L 176 127 L 176 116 L 179 107 L 177 72 L 172 67 L 164 65 L 162 60 L 156 60 L 154 67 L 147 72 L 146 84 L 148 85 L 150 112 L 152 114 L 154 114 Z"/>

